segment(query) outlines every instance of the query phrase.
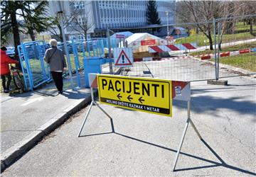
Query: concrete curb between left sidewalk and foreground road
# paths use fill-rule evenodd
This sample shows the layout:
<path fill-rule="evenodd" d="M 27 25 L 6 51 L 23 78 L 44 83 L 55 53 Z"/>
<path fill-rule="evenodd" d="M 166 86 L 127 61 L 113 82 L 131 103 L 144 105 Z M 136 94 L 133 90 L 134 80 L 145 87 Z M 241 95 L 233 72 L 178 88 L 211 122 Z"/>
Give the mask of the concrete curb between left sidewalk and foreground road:
<path fill-rule="evenodd" d="M 97 94 L 97 91 L 94 91 L 94 95 L 95 94 Z M 83 99 L 82 101 L 73 103 L 68 108 L 65 108 L 65 110 L 62 110 L 62 112 L 48 120 L 41 127 L 38 127 L 30 135 L 22 139 L 21 142 L 18 142 L 13 147 L 7 149 L 6 152 L 1 154 L 1 173 L 9 166 L 14 164 L 14 162 L 23 156 L 23 154 L 26 154 L 28 150 L 38 144 L 43 137 L 49 135 L 50 132 L 53 132 L 53 130 L 68 120 L 70 115 L 76 113 L 78 110 L 85 107 L 85 105 L 88 105 L 90 101 L 92 101 L 91 96 L 87 96 L 87 98 Z"/>

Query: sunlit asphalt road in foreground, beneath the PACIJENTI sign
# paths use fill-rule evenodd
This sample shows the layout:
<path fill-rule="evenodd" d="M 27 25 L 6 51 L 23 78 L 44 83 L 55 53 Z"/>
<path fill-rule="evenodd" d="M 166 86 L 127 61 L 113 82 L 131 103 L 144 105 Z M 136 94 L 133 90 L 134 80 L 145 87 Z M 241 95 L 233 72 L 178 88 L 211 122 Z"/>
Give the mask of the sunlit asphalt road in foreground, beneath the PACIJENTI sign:
<path fill-rule="evenodd" d="M 192 83 L 191 125 L 176 171 L 174 157 L 186 122 L 186 103 L 174 102 L 173 118 L 101 105 L 52 132 L 2 176 L 251 176 L 255 174 L 255 80 L 229 86 Z"/>

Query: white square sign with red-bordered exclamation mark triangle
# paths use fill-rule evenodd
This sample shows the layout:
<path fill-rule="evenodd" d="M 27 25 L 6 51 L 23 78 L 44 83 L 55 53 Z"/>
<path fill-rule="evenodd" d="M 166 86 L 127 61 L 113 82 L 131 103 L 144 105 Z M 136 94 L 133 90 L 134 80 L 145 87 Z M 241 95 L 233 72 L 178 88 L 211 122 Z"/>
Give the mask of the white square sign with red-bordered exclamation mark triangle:
<path fill-rule="evenodd" d="M 132 64 L 132 48 L 114 48 L 114 66 L 128 67 Z"/>

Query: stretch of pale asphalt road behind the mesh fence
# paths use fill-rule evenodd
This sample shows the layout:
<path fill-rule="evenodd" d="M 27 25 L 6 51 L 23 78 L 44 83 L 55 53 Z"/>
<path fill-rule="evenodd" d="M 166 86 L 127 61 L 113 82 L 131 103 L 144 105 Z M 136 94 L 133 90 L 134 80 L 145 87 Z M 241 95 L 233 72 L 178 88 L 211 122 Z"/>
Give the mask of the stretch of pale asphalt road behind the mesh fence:
<path fill-rule="evenodd" d="M 225 75 L 227 74 L 225 72 Z M 164 58 L 161 61 L 135 62 L 134 67 L 130 68 L 127 75 L 147 76 L 175 81 L 198 81 L 215 79 L 215 65 L 193 59 L 192 57 L 186 59 Z"/>

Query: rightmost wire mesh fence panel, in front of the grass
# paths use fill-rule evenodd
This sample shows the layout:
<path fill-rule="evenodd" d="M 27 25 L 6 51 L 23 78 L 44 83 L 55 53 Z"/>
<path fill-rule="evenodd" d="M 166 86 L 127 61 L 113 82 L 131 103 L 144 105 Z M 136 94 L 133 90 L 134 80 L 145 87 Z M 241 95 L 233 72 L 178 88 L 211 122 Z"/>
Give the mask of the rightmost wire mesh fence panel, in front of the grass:
<path fill-rule="evenodd" d="M 256 14 L 215 20 L 216 79 L 256 74 L 255 21 Z"/>

